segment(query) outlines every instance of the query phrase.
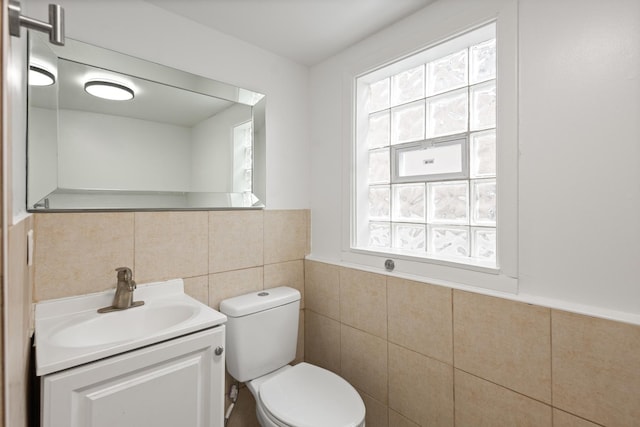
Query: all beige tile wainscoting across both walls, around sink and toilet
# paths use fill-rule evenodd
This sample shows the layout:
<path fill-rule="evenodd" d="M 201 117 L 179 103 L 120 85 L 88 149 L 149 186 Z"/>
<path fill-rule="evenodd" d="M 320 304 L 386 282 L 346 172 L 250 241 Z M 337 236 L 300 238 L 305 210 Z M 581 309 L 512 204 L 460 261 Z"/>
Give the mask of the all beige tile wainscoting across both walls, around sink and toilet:
<path fill-rule="evenodd" d="M 214 308 L 298 288 L 297 360 L 350 381 L 367 427 L 638 425 L 640 326 L 304 261 L 307 210 L 34 220 L 36 301 L 111 289 L 120 266 L 138 283 L 183 277 Z M 29 227 L 10 245 L 21 265 Z M 254 405 L 243 388 L 229 427 L 257 426 Z"/>

